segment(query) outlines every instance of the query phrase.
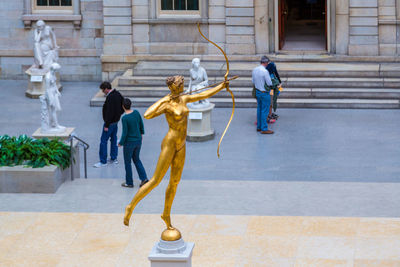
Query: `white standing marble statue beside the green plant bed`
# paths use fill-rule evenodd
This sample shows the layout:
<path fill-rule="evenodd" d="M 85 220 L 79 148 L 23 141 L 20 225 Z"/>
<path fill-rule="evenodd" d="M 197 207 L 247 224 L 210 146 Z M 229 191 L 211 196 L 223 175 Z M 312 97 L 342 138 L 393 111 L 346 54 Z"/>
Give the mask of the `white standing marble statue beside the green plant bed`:
<path fill-rule="evenodd" d="M 58 63 L 50 65 L 49 72 L 45 75 L 46 92 L 40 96 L 42 103 L 42 133 L 60 133 L 65 131 L 57 120 L 57 111 L 61 110 L 60 92 L 57 87 L 56 71 L 60 69 Z"/>

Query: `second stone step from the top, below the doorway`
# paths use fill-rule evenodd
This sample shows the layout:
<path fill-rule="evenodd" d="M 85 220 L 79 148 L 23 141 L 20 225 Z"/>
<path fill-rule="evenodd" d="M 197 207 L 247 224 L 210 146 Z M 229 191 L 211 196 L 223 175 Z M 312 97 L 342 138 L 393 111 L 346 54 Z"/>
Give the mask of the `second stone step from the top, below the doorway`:
<path fill-rule="evenodd" d="M 188 81 L 189 77 L 185 77 Z M 289 77 L 282 78 L 284 87 L 349 87 L 349 88 L 400 88 L 400 78 L 349 78 L 349 77 Z M 209 83 L 220 82 L 221 77 L 209 77 Z M 129 86 L 162 86 L 165 84 L 165 78 L 160 76 L 121 76 L 118 80 L 118 87 Z M 251 77 L 239 77 L 231 82 L 232 87 L 248 87 L 251 83 Z"/>

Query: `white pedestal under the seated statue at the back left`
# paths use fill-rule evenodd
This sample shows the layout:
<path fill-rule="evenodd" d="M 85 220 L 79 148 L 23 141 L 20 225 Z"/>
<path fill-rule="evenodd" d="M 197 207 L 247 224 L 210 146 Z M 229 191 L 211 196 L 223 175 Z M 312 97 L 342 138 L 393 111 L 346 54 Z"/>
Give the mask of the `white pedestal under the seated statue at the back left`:
<path fill-rule="evenodd" d="M 39 98 L 39 96 L 46 92 L 44 78 L 48 71 L 48 69 L 38 69 L 34 67 L 30 67 L 27 71 L 25 71 L 25 73 L 28 74 L 28 90 L 25 92 L 27 97 Z M 62 86 L 60 83 L 60 74 L 58 72 L 56 72 L 56 77 L 58 91 L 61 92 Z"/>

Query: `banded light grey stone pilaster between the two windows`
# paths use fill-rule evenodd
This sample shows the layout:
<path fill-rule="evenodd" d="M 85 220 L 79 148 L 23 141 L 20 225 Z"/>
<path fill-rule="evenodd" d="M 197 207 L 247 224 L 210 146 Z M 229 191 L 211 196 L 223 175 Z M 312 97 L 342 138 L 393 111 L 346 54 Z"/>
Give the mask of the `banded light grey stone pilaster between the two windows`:
<path fill-rule="evenodd" d="M 131 0 L 103 0 L 104 55 L 132 54 Z"/>

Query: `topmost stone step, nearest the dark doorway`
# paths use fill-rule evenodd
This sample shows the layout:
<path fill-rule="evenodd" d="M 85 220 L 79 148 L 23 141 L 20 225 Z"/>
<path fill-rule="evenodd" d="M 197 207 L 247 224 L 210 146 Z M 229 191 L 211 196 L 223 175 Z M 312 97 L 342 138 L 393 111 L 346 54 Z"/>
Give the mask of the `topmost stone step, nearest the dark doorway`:
<path fill-rule="evenodd" d="M 209 76 L 221 77 L 225 74 L 226 63 L 223 61 L 202 61 L 201 65 Z M 230 73 L 250 77 L 257 62 L 230 63 Z M 157 66 L 155 68 L 155 66 Z M 277 62 L 282 77 L 399 77 L 398 63 L 329 63 L 329 62 Z M 173 75 L 189 76 L 191 62 L 189 61 L 141 61 L 133 69 L 135 76 Z"/>

